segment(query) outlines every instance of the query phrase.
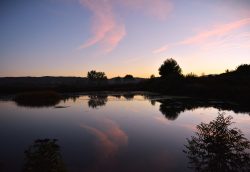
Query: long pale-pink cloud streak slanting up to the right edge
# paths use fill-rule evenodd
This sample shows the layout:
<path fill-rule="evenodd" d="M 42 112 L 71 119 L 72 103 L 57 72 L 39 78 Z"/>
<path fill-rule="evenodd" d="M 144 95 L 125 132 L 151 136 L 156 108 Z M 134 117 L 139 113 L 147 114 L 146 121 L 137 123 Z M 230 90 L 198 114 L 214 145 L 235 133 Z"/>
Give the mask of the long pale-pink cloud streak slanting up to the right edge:
<path fill-rule="evenodd" d="M 194 45 L 194 44 L 199 44 L 199 45 L 204 45 L 207 46 L 206 44 L 210 45 L 216 45 L 216 44 L 226 44 L 225 40 L 213 40 L 214 43 L 211 43 L 211 39 L 215 39 L 218 37 L 223 37 L 223 36 L 230 36 L 233 31 L 240 29 L 246 25 L 250 24 L 250 18 L 244 18 L 238 21 L 234 21 L 231 23 L 226 23 L 226 24 L 220 24 L 216 25 L 208 30 L 202 31 L 194 36 L 191 36 L 189 38 L 186 38 L 182 41 L 176 42 L 176 43 L 170 43 L 170 44 L 165 44 L 155 50 L 153 50 L 153 53 L 161 53 L 166 50 L 168 50 L 170 47 L 178 46 L 178 45 Z"/>

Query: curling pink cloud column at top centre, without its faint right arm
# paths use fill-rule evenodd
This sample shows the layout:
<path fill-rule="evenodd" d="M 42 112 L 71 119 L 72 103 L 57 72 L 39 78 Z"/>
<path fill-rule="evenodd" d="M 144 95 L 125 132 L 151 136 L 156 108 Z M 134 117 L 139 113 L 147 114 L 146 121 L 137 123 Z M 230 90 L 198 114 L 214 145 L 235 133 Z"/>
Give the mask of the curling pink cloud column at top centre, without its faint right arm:
<path fill-rule="evenodd" d="M 87 48 L 97 43 L 105 43 L 109 49 L 114 48 L 126 34 L 125 28 L 116 21 L 113 7 L 109 1 L 80 0 L 92 13 L 92 34 L 80 48 Z"/>

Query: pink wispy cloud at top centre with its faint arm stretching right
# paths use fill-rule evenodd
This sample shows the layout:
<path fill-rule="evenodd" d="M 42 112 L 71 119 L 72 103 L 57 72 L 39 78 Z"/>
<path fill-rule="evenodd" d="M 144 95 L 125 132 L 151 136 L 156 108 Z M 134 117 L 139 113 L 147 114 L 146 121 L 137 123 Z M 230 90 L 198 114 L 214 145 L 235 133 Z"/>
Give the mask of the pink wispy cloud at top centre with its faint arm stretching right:
<path fill-rule="evenodd" d="M 105 52 L 112 51 L 126 35 L 122 18 L 115 11 L 117 6 L 124 9 L 136 9 L 159 19 L 165 19 L 171 9 L 169 0 L 79 0 L 88 8 L 92 16 L 92 37 L 79 48 L 84 49 L 96 44 L 104 47 Z"/>

